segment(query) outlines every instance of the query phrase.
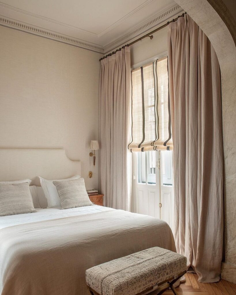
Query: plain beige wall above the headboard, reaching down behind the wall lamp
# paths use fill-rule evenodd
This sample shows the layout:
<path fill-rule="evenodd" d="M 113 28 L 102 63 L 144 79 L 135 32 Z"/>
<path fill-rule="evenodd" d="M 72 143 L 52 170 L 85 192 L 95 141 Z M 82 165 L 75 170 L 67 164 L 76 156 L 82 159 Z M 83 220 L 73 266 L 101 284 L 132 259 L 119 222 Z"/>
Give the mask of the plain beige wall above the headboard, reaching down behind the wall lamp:
<path fill-rule="evenodd" d="M 63 147 L 82 161 L 86 187 L 98 188 L 89 144 L 98 139 L 100 54 L 3 26 L 0 36 L 0 148 Z"/>

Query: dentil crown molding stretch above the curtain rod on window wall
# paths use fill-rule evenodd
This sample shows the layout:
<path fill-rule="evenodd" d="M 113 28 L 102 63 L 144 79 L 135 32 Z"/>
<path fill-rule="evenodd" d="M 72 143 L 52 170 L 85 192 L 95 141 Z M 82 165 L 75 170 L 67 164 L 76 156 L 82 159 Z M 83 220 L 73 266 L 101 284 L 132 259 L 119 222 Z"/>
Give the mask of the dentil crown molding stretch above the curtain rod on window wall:
<path fill-rule="evenodd" d="M 152 28 L 158 26 L 162 22 L 165 22 L 167 19 L 175 16 L 176 14 L 183 12 L 183 9 L 178 5 L 171 5 L 167 9 L 160 12 L 158 15 L 155 14 L 153 17 L 150 17 L 145 22 L 143 22 L 141 25 L 133 28 L 128 33 L 126 33 L 123 36 L 120 36 L 119 38 L 115 39 L 111 43 L 105 45 L 103 47 L 104 54 L 114 50 L 115 48 L 119 47 L 120 45 L 129 42 L 130 40 L 134 39 L 135 37 L 145 33 L 148 30 L 151 30 Z"/>

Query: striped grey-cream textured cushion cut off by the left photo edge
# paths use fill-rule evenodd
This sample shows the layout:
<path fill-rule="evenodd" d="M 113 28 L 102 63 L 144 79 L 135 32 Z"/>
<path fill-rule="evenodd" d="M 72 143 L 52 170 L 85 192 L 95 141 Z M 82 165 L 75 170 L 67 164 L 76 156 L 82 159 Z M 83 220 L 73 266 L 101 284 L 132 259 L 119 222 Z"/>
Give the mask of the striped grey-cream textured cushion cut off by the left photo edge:
<path fill-rule="evenodd" d="M 0 183 L 0 216 L 36 212 L 29 183 Z"/>

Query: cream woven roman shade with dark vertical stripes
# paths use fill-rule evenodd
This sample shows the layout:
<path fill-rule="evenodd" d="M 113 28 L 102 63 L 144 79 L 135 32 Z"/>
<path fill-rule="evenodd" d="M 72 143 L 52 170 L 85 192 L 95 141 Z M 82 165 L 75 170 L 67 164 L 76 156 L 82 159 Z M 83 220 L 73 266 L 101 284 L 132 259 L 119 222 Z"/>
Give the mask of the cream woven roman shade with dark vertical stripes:
<path fill-rule="evenodd" d="M 167 57 L 132 71 L 132 152 L 172 150 Z"/>

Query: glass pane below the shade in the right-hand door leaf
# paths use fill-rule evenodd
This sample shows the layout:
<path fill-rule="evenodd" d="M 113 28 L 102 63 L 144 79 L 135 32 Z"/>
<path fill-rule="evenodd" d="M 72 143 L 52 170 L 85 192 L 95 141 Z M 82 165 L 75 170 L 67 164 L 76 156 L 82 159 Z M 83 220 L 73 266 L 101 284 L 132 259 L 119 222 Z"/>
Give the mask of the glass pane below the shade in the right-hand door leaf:
<path fill-rule="evenodd" d="M 169 151 L 169 150 L 161 151 L 160 155 L 161 155 L 162 184 L 173 185 L 172 151 Z"/>

